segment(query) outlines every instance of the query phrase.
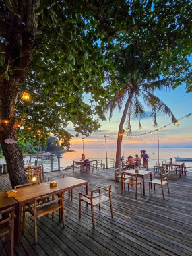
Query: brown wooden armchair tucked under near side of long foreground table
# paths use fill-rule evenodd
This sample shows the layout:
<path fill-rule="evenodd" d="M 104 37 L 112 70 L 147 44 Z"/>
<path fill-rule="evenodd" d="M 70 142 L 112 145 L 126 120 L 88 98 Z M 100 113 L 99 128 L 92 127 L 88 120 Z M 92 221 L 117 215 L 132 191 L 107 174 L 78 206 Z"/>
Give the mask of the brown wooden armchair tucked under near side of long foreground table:
<path fill-rule="evenodd" d="M 63 208 L 63 192 L 51 193 L 50 195 L 46 195 L 44 197 L 37 197 L 34 200 L 34 204 L 27 204 L 27 206 L 28 206 L 27 211 L 30 212 L 32 216 L 34 216 L 35 243 L 37 243 L 37 219 L 38 218 L 49 213 L 52 213 L 52 218 L 53 218 L 54 212 L 56 210 L 59 210 L 59 218 L 63 222 L 63 227 L 65 226 L 64 208 Z M 23 216 L 24 220 L 25 220 L 25 213 L 26 213 L 26 210 L 24 209 L 24 216 Z"/>

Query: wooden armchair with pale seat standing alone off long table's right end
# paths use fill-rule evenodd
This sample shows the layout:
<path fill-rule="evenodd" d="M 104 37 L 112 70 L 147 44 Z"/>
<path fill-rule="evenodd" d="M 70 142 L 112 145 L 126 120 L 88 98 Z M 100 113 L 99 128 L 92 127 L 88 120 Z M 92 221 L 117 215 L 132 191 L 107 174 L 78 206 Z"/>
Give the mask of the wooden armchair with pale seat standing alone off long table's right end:
<path fill-rule="evenodd" d="M 99 205 L 99 210 L 100 210 L 101 209 L 100 204 L 104 203 L 105 201 L 109 201 L 110 214 L 113 218 L 113 208 L 112 208 L 112 202 L 111 202 L 111 185 L 108 185 L 106 187 L 99 187 L 98 189 L 92 190 L 90 196 L 79 193 L 79 218 L 81 218 L 81 215 L 82 215 L 82 212 L 81 212 L 82 201 L 91 205 L 93 228 L 95 227 L 94 226 L 94 206 Z"/>

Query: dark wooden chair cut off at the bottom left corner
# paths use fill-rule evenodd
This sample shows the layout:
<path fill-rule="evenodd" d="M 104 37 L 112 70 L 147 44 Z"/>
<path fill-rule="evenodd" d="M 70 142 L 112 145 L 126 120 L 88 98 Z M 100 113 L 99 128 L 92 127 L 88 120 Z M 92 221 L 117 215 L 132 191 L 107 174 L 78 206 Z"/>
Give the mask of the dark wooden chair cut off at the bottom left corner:
<path fill-rule="evenodd" d="M 0 212 L 0 237 L 7 237 L 10 234 L 11 256 L 14 255 L 14 215 L 15 207 Z"/>

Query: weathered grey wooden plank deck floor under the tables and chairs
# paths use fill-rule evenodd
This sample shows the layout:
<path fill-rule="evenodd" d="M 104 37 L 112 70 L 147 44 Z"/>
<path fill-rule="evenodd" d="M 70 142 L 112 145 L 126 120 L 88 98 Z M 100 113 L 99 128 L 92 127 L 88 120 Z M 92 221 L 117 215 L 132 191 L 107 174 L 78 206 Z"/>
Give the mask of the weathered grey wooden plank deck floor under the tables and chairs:
<path fill-rule="evenodd" d="M 34 222 L 28 214 L 22 241 L 15 246 L 15 255 L 192 255 L 192 173 L 176 179 L 170 177 L 170 195 L 165 188 L 162 199 L 160 187 L 156 193 L 146 196 L 120 193 L 120 184 L 114 187 L 114 171 L 100 170 L 82 173 L 66 170 L 66 176 L 90 181 L 90 189 L 113 185 L 114 219 L 110 217 L 109 205 L 95 208 L 95 230 L 92 229 L 90 207 L 82 204 L 82 218 L 78 218 L 78 192 L 73 190 L 73 201 L 65 195 L 65 228 L 58 214 L 38 220 L 38 244 L 34 245 Z M 46 174 L 56 178 L 59 172 Z M 0 189 L 10 187 L 7 174 L 0 176 Z M 135 189 L 135 188 L 134 188 Z M 9 242 L 0 241 L 0 255 L 9 255 Z"/>

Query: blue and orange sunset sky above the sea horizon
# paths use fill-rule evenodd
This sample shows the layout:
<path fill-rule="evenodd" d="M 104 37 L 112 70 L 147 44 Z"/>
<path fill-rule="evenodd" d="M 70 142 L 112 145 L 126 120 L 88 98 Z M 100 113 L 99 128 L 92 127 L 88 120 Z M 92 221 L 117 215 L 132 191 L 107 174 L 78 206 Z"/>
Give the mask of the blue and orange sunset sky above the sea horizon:
<path fill-rule="evenodd" d="M 192 112 L 192 92 L 187 94 L 184 86 L 179 86 L 177 89 L 170 91 L 164 89 L 161 92 L 156 92 L 156 96 L 160 97 L 168 105 L 177 119 Z M 102 122 L 102 127 L 96 133 L 85 138 L 84 146 L 86 148 L 103 148 L 105 145 L 104 135 L 106 135 L 108 148 L 115 147 L 121 115 L 122 112 L 119 113 L 119 111 L 116 111 L 110 121 L 107 119 L 107 121 Z M 164 115 L 158 115 L 158 127 L 162 127 L 168 123 L 170 123 L 170 118 Z M 147 133 L 155 129 L 150 117 L 141 121 L 141 130 L 138 129 L 139 123 L 137 120 L 132 120 L 131 124 L 133 135 Z M 191 127 L 192 115 L 179 121 L 178 126 L 169 125 L 166 129 L 162 129 L 158 133 L 152 133 L 152 135 L 143 135 L 143 137 L 132 139 L 124 135 L 123 146 L 124 148 L 156 148 L 157 136 L 159 136 L 161 148 L 192 148 Z M 71 148 L 82 148 L 82 137 L 74 137 L 71 143 Z"/>

